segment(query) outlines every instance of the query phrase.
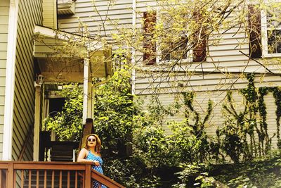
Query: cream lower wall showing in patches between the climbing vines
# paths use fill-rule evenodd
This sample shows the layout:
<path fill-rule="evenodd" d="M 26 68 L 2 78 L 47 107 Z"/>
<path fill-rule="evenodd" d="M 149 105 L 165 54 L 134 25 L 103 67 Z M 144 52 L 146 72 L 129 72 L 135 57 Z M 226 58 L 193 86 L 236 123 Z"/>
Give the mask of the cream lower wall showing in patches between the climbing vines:
<path fill-rule="evenodd" d="M 160 94 L 158 96 L 159 101 L 162 102 L 163 106 L 169 106 L 173 104 L 174 97 L 176 94 Z M 181 94 L 179 96 L 182 99 Z M 141 99 L 145 100 L 144 106 L 147 107 L 148 104 L 150 104 L 151 96 L 141 96 Z M 222 104 L 226 101 L 226 92 L 197 92 L 195 94 L 195 101 L 193 102 L 193 106 L 195 107 L 196 111 L 200 113 L 200 117 L 203 119 L 204 115 L 206 114 L 207 110 L 207 104 L 209 99 L 213 101 L 214 108 L 210 115 L 209 121 L 207 123 L 207 133 L 211 137 L 216 137 L 216 129 L 218 127 L 223 126 L 224 117 L 222 115 Z M 239 94 L 237 91 L 233 91 L 233 100 L 235 101 L 235 109 L 237 112 L 244 111 L 243 104 L 243 97 L 242 94 Z M 266 102 L 266 110 L 267 110 L 267 120 L 266 123 L 268 123 L 268 135 L 269 137 L 273 137 L 273 135 L 277 131 L 276 127 L 276 105 L 275 105 L 275 99 L 273 97 L 273 94 L 271 92 L 268 93 L 268 95 L 264 96 L 264 100 Z M 184 119 L 184 108 L 181 107 L 181 111 L 177 113 L 174 116 L 168 116 L 164 118 L 166 120 L 166 123 L 164 124 L 164 130 L 167 134 L 171 134 L 171 130 L 169 129 L 169 125 L 166 125 L 168 123 L 171 123 L 173 121 L 175 122 L 181 122 Z M 192 122 L 192 120 L 190 119 Z M 259 127 L 259 123 L 258 123 Z M 276 136 L 273 137 L 272 142 L 273 147 L 277 147 L 277 138 Z"/>

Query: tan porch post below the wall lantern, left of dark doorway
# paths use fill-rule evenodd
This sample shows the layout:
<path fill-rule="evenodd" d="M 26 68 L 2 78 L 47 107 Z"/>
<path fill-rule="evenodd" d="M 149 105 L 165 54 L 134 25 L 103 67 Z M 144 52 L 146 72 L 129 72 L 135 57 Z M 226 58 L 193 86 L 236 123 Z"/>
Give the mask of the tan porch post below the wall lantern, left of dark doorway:
<path fill-rule="evenodd" d="M 33 142 L 33 161 L 39 160 L 39 132 L 40 132 L 40 102 L 41 85 L 35 85 L 35 113 L 34 113 L 34 142 Z"/>

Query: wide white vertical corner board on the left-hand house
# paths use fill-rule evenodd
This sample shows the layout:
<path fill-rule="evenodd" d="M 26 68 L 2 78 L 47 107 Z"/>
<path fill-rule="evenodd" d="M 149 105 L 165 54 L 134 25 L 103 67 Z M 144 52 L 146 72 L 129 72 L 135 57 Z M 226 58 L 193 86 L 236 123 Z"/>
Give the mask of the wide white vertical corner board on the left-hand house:
<path fill-rule="evenodd" d="M 3 128 L 3 161 L 12 160 L 13 144 L 13 104 L 15 93 L 15 51 L 17 45 L 18 29 L 18 0 L 10 1 L 8 20 L 8 48 L 6 61 L 6 88 Z"/>

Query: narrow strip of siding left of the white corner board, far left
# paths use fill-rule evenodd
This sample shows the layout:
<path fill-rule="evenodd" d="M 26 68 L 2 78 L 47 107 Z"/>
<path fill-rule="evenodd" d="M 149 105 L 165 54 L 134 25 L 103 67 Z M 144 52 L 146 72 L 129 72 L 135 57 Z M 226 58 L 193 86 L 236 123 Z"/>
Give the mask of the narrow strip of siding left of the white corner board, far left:
<path fill-rule="evenodd" d="M 8 15 L 10 1 L 1 0 L 0 3 L 0 160 L 3 149 L 3 126 L 6 82 L 6 58 L 8 39 Z"/>

